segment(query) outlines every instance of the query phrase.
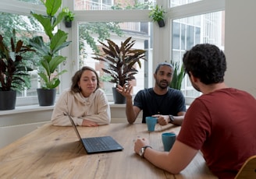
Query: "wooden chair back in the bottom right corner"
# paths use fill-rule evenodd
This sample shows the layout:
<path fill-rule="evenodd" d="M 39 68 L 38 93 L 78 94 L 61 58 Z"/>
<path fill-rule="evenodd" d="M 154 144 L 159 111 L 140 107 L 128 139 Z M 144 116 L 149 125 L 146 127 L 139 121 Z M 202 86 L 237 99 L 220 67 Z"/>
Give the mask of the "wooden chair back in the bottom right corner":
<path fill-rule="evenodd" d="M 236 174 L 235 179 L 256 178 L 256 155 L 249 157 Z"/>

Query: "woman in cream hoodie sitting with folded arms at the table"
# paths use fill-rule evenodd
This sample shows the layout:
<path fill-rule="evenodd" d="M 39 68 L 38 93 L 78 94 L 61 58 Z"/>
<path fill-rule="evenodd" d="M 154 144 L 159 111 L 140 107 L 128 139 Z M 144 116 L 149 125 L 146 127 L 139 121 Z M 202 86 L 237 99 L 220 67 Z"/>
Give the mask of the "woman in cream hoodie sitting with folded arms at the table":
<path fill-rule="evenodd" d="M 71 125 L 69 113 L 76 125 L 108 125 L 111 121 L 110 107 L 105 92 L 100 89 L 97 72 L 84 66 L 72 77 L 72 86 L 59 97 L 52 113 L 52 124 Z"/>

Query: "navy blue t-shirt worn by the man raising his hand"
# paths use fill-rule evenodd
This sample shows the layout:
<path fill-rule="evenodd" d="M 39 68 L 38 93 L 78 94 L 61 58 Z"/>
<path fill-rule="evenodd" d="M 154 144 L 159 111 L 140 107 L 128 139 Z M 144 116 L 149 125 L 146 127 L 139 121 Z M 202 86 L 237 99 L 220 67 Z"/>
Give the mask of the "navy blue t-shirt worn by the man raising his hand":
<path fill-rule="evenodd" d="M 180 111 L 186 111 L 183 93 L 172 88 L 168 88 L 168 92 L 164 95 L 156 94 L 153 88 L 140 90 L 134 98 L 133 106 L 143 111 L 143 123 L 146 122 L 147 116 L 154 114 L 176 116 Z"/>

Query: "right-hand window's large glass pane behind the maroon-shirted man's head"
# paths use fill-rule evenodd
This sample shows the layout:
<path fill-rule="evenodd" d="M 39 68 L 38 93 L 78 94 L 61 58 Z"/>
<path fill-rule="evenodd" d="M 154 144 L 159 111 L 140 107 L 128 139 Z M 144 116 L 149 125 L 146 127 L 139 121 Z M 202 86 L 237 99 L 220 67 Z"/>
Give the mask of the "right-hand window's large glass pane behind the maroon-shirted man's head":
<path fill-rule="evenodd" d="M 196 44 L 215 44 L 224 50 L 225 12 L 212 12 L 172 20 L 172 60 L 182 63 L 183 54 Z M 188 76 L 183 79 L 182 89 L 186 97 L 199 97 Z"/>

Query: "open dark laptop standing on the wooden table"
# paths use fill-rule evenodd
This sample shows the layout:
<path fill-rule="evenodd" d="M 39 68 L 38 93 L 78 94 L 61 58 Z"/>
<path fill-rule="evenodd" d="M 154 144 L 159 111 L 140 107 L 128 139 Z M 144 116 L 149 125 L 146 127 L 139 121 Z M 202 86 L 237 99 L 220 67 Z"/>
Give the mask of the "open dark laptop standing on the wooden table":
<path fill-rule="evenodd" d="M 73 119 L 70 117 L 69 114 L 65 115 L 69 117 L 69 120 L 73 126 L 73 129 L 76 132 L 78 139 L 80 140 L 81 144 L 84 146 L 84 149 L 87 151 L 88 154 L 108 153 L 123 150 L 123 146 L 120 146 L 119 143 L 116 142 L 115 139 L 112 139 L 111 136 L 81 138 Z"/>

